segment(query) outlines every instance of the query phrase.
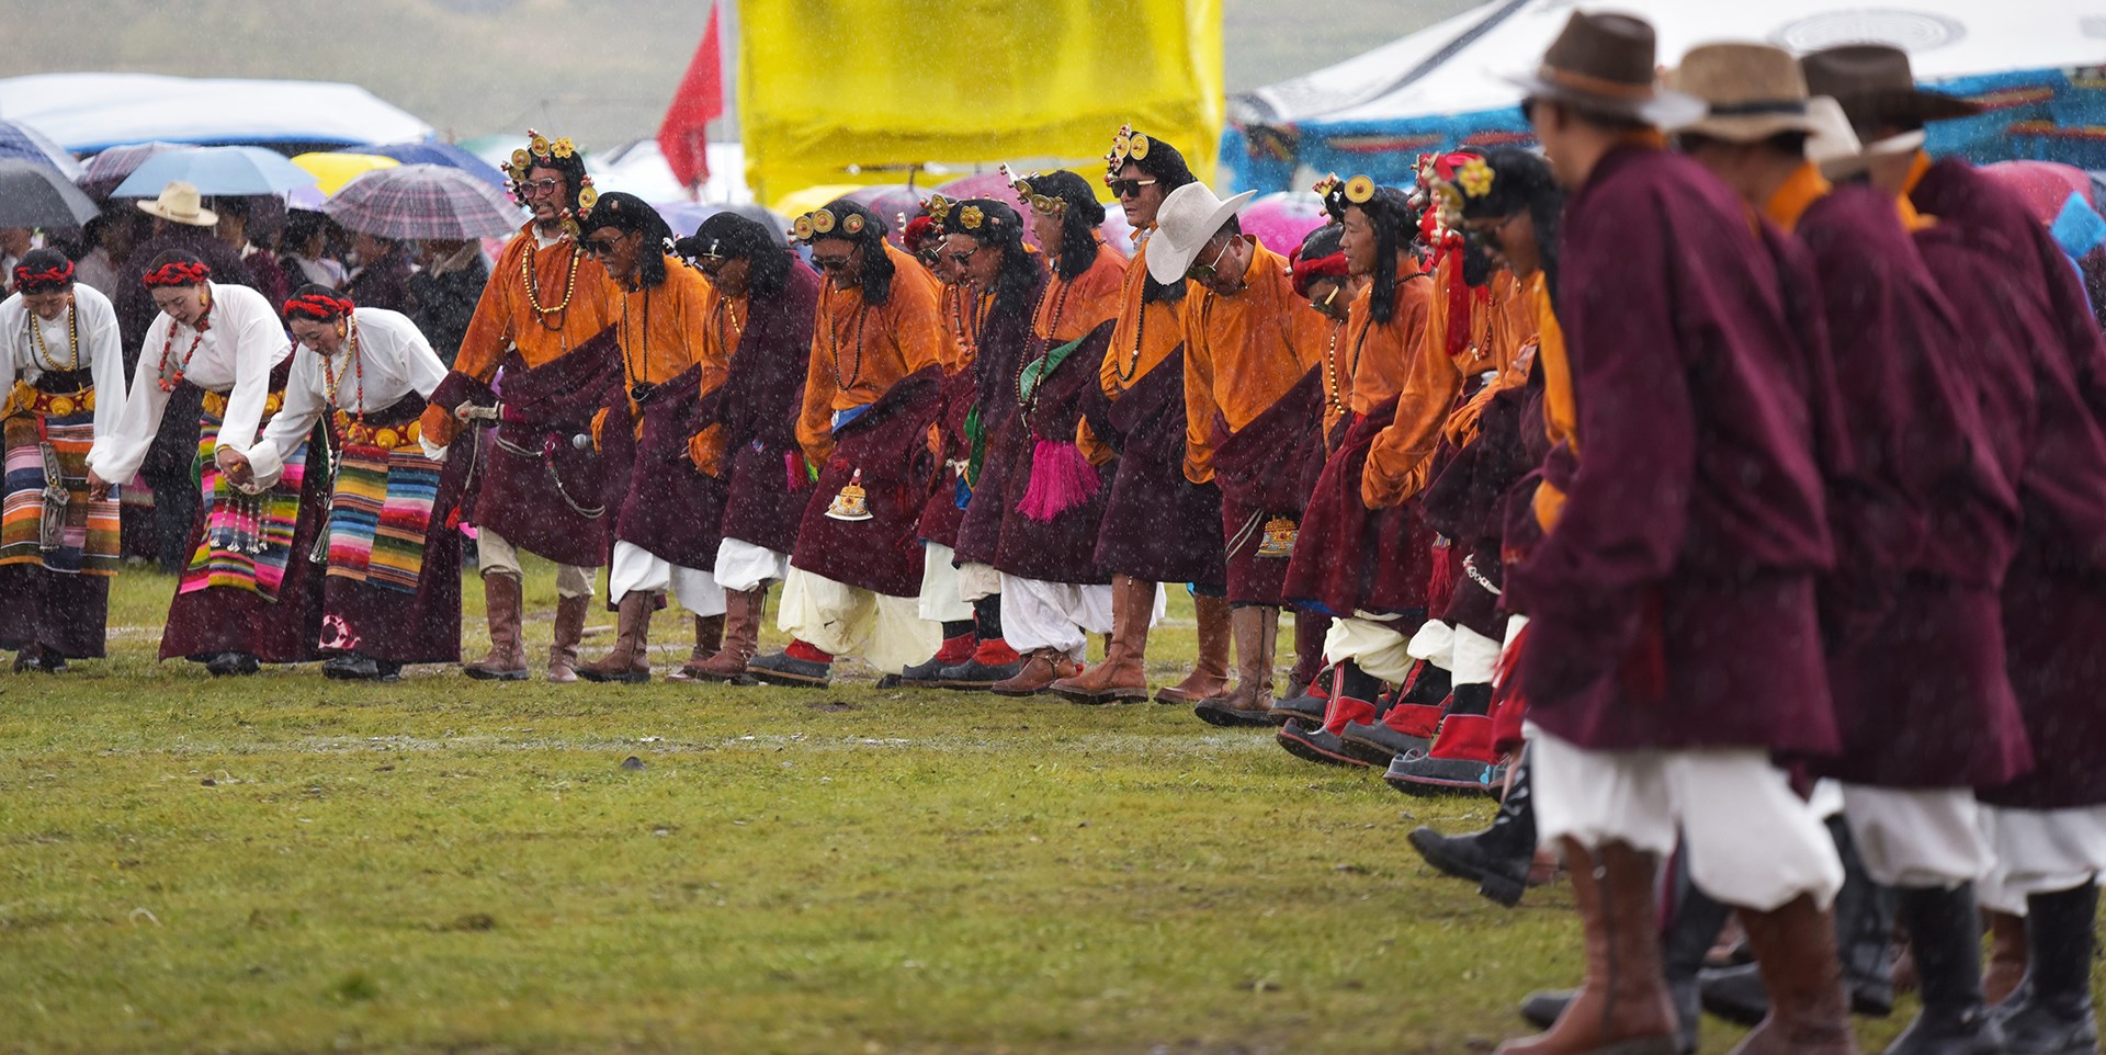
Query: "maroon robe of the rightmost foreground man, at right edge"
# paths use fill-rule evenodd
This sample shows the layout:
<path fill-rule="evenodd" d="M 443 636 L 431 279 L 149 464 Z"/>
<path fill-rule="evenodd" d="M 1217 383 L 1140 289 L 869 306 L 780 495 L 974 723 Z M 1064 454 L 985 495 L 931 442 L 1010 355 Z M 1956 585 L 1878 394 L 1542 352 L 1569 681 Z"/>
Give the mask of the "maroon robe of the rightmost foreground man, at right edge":
<path fill-rule="evenodd" d="M 2001 602 L 2034 769 L 1978 796 L 2106 804 L 2106 653 L 2093 646 L 2106 636 L 2106 347 L 2062 253 L 2001 183 L 1946 160 L 1912 202 L 1938 219 L 1916 244 L 1956 312 L 1963 377 L 2020 499 Z"/>

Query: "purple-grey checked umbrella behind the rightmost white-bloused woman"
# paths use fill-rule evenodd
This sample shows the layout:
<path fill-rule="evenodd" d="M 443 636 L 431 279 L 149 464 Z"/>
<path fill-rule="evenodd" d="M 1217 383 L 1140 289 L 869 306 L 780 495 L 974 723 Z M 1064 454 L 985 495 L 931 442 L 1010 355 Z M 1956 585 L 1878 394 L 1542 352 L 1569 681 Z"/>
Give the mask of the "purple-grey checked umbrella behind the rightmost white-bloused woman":
<path fill-rule="evenodd" d="M 322 213 L 354 232 L 411 240 L 495 238 L 526 221 L 508 194 L 444 164 L 366 173 L 322 204 Z"/>

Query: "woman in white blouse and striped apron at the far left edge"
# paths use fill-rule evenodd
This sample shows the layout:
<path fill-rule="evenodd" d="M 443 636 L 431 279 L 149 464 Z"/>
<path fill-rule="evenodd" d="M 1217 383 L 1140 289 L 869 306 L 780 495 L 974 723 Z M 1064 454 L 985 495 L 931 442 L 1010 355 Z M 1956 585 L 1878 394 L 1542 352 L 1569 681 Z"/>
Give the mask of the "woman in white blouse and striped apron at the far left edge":
<path fill-rule="evenodd" d="M 0 649 L 15 670 L 57 674 L 103 655 L 118 503 L 88 493 L 88 449 L 124 409 L 124 350 L 110 297 L 55 248 L 23 255 L 0 303 L 6 493 L 0 514 Z"/>

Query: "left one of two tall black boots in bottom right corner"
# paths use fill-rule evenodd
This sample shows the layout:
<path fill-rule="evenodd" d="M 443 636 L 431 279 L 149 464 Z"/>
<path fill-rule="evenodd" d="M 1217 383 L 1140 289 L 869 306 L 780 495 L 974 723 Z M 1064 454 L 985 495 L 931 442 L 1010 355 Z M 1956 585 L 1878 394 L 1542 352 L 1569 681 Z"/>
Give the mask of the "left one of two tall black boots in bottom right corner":
<path fill-rule="evenodd" d="M 2003 1030 L 1982 1002 L 1982 914 L 1973 884 L 1904 887 L 1898 895 L 1902 929 L 1916 954 L 1923 1011 L 1887 1055 L 1999 1055 Z"/>

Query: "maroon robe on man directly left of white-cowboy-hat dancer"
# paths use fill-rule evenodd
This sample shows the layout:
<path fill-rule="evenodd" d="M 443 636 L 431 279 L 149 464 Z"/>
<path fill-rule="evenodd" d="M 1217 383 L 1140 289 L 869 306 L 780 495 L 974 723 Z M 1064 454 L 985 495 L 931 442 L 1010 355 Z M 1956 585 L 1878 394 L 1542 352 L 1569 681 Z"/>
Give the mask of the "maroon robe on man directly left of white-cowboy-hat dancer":
<path fill-rule="evenodd" d="M 1118 400 L 1095 385 L 1082 417 L 1118 451 L 1097 524 L 1097 564 L 1150 583 L 1192 583 L 1219 594 L 1221 489 L 1184 474 L 1184 347 L 1133 381 Z"/>

